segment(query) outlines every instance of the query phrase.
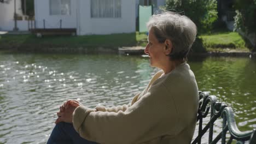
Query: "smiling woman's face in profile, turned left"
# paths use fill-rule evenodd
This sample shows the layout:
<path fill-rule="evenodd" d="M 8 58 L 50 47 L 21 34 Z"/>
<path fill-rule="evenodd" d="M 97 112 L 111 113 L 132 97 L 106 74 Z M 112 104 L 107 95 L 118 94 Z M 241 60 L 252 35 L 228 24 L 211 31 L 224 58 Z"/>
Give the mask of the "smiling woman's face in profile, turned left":
<path fill-rule="evenodd" d="M 166 63 L 165 43 L 159 43 L 152 29 L 148 34 L 148 44 L 144 52 L 149 56 L 150 66 L 162 69 Z"/>

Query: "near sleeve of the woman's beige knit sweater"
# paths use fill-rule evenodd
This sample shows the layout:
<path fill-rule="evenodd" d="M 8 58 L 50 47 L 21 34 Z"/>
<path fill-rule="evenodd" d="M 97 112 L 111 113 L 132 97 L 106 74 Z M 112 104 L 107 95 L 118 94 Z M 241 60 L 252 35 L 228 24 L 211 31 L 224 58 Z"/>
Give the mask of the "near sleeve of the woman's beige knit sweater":
<path fill-rule="evenodd" d="M 79 106 L 73 114 L 73 125 L 80 136 L 98 143 L 145 142 L 165 134 L 170 127 L 175 129 L 172 123 L 177 118 L 170 119 L 170 115 L 176 115 L 176 109 L 168 95 L 164 87 L 156 88 L 126 111 L 118 112 L 93 112 Z"/>

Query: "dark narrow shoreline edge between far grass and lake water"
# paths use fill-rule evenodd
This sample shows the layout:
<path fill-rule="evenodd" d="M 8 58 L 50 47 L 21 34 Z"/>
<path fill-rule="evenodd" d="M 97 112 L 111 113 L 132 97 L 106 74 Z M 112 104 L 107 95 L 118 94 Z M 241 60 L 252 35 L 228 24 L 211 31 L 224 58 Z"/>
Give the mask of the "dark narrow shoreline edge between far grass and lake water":
<path fill-rule="evenodd" d="M 142 46 L 123 46 L 123 47 L 109 47 L 109 46 L 79 46 L 70 47 L 66 45 L 49 45 L 49 44 L 22 44 L 22 45 L 2 45 L 0 51 L 17 53 L 77 53 L 77 54 L 93 54 L 93 53 L 107 53 L 118 55 L 145 55 L 144 47 Z M 256 52 L 190 52 L 189 56 L 214 56 L 214 57 L 256 57 Z"/>

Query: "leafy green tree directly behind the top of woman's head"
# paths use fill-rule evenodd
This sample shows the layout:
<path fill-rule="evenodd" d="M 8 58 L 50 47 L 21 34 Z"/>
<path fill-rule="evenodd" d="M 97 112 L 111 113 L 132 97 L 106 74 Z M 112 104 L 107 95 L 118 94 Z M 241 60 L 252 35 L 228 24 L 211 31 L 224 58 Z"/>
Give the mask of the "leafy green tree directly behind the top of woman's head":
<path fill-rule="evenodd" d="M 199 33 L 211 31 L 218 19 L 216 0 L 167 0 L 164 9 L 188 16 Z"/>

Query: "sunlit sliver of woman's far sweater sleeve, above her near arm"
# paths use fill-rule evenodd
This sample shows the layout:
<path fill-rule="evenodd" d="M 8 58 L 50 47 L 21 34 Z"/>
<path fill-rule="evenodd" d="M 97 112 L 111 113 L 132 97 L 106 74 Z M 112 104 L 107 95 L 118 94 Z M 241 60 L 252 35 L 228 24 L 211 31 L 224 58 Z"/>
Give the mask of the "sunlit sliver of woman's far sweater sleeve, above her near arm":
<path fill-rule="evenodd" d="M 98 105 L 96 106 L 96 110 L 97 111 L 107 111 L 107 112 L 118 112 L 118 111 L 125 111 L 129 106 L 131 106 L 131 104 L 135 103 L 135 101 L 137 100 L 139 94 L 138 93 L 135 95 L 135 97 L 133 97 L 132 102 L 130 104 L 127 105 L 119 105 L 119 106 L 112 106 L 112 107 L 104 107 L 103 105 Z"/>

